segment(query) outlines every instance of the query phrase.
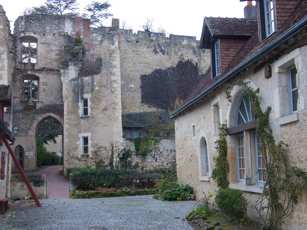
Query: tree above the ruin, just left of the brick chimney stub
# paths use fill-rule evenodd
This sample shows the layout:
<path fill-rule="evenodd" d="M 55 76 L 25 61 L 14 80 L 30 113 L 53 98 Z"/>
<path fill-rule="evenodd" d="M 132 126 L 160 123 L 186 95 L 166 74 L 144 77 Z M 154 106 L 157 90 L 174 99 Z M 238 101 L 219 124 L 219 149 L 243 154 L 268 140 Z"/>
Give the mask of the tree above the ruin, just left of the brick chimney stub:
<path fill-rule="evenodd" d="M 91 25 L 100 27 L 102 26 L 102 19 L 108 18 L 112 15 L 105 12 L 109 7 L 111 7 L 111 5 L 107 1 L 104 3 L 93 1 L 84 8 L 84 10 L 89 13 L 83 14 L 82 16 L 89 17 Z"/>

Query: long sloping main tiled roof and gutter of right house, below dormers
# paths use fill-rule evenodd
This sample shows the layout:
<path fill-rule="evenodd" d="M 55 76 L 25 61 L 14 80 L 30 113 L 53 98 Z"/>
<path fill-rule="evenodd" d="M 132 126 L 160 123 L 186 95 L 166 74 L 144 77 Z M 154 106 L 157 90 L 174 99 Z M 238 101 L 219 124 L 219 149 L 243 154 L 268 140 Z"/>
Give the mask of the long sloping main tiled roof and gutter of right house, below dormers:
<path fill-rule="evenodd" d="M 209 77 L 207 75 L 208 72 L 206 73 L 206 77 L 191 92 L 189 97 L 185 100 L 184 104 L 179 109 L 177 109 L 175 112 L 172 113 L 172 117 L 178 114 L 180 111 L 183 111 L 190 104 L 197 101 L 201 97 L 201 95 L 205 93 L 207 88 L 209 88 L 210 86 L 212 87 L 214 82 L 220 80 L 223 77 L 227 77 L 227 79 L 232 77 L 233 74 L 229 75 L 229 73 L 232 72 L 238 65 L 244 63 L 249 58 L 253 57 L 258 52 L 260 52 L 262 49 L 265 49 L 267 45 L 269 45 L 270 43 L 272 43 L 273 41 L 281 37 L 285 32 L 287 32 L 294 25 L 296 25 L 297 22 L 305 18 L 307 18 L 307 0 L 301 0 L 301 2 L 296 6 L 296 8 L 293 10 L 289 18 L 284 22 L 284 24 L 280 27 L 280 29 L 260 43 L 258 39 L 258 30 L 256 30 L 256 32 L 245 43 L 245 45 L 238 51 L 237 55 L 232 59 L 232 61 L 225 68 L 225 70 L 221 73 L 220 76 L 214 79 L 211 79 L 209 81 Z M 248 64 L 250 63 L 247 63 L 247 65 Z"/>

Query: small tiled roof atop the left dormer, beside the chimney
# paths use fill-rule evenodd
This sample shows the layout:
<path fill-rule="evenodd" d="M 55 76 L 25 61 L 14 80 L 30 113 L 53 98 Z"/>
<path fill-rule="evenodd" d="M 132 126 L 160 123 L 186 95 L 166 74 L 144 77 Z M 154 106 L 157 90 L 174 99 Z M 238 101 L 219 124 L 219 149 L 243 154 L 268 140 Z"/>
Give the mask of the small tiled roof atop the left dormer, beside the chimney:
<path fill-rule="evenodd" d="M 256 19 L 205 17 L 212 35 L 252 36 L 257 30 Z"/>

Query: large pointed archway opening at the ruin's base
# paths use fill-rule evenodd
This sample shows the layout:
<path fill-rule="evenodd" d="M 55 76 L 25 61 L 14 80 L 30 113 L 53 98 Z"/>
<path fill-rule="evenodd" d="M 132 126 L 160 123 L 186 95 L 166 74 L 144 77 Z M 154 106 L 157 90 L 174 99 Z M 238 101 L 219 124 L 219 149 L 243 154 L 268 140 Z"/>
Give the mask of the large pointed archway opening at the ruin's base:
<path fill-rule="evenodd" d="M 53 153 L 63 157 L 63 127 L 61 123 L 51 117 L 42 119 L 36 126 L 36 167 L 42 165 L 42 152 Z M 60 143 L 59 143 L 60 142 Z M 63 160 L 60 160 L 62 164 Z M 46 164 L 45 164 L 46 165 Z"/>

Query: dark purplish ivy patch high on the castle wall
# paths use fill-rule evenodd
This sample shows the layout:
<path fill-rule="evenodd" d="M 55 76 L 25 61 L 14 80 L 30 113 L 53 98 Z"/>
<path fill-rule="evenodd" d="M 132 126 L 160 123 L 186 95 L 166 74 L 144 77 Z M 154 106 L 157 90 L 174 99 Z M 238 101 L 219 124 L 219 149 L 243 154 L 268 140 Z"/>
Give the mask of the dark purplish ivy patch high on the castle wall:
<path fill-rule="evenodd" d="M 174 111 L 203 78 L 199 65 L 191 59 L 141 75 L 142 103 Z"/>

